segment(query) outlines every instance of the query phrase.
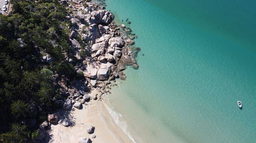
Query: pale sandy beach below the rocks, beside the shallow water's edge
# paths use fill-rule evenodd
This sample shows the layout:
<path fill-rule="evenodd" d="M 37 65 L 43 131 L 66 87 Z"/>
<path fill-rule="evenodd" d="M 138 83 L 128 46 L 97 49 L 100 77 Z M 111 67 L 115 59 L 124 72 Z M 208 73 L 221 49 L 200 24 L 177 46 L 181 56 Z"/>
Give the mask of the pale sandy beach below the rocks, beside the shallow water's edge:
<path fill-rule="evenodd" d="M 92 94 L 95 92 L 96 90 Z M 66 118 L 73 122 L 73 126 L 52 125 L 50 142 L 78 142 L 80 138 L 89 137 L 92 142 L 132 143 L 133 141 L 115 124 L 103 102 L 91 100 L 89 105 L 83 104 L 82 109 L 72 107 L 69 112 L 64 112 Z M 89 126 L 95 127 L 93 134 L 87 133 Z M 96 135 L 96 138 L 91 138 L 90 135 Z"/>

